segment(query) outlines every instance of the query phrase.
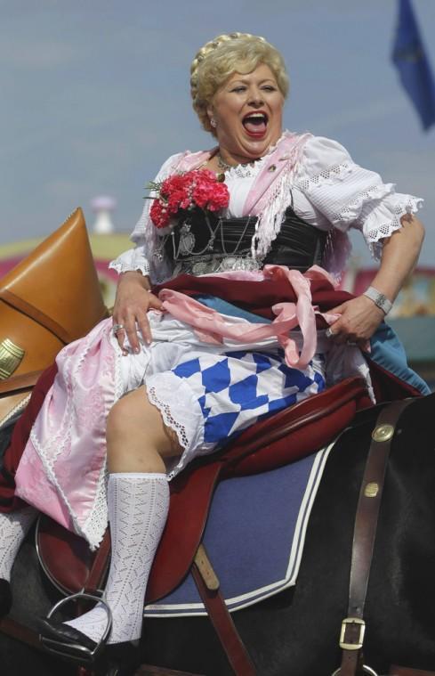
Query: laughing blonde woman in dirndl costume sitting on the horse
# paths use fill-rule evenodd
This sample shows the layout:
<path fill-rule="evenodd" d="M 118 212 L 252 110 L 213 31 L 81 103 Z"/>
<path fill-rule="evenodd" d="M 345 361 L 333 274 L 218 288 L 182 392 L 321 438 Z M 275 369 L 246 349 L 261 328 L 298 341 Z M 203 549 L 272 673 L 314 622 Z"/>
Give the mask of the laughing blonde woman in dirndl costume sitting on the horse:
<path fill-rule="evenodd" d="M 367 345 L 415 265 L 423 226 L 414 212 L 421 200 L 384 185 L 338 143 L 283 133 L 287 89 L 282 57 L 262 37 L 220 36 L 197 53 L 193 106 L 217 147 L 165 162 L 153 193 L 154 224 L 147 203 L 133 232 L 136 248 L 112 264 L 120 273 L 113 327 L 102 322 L 58 357 L 59 374 L 16 475 L 17 494 L 35 507 L 0 515 L 4 609 L 13 558 L 36 508 L 44 506 L 92 546 L 100 542 L 107 451 L 108 643 L 139 639 L 149 568 L 167 515 L 168 478 L 260 416 L 315 394 L 327 378 L 342 377 L 343 361 L 369 379 L 359 347 Z M 181 179 L 172 180 L 177 175 L 193 176 L 189 190 L 203 196 L 203 208 L 189 211 L 186 186 L 182 192 Z M 222 198 L 215 176 L 229 191 L 220 211 L 204 198 L 206 190 Z M 175 185 L 173 192 L 168 185 Z M 181 192 L 175 200 L 176 191 L 187 201 Z M 321 263 L 339 273 L 351 226 L 363 232 L 381 265 L 373 287 L 324 314 L 331 326 L 316 336 L 310 284 L 332 289 L 331 278 L 315 267 L 302 276 L 277 265 L 294 271 Z M 186 272 L 213 273 L 199 278 L 197 288 L 189 282 L 196 299 L 177 290 L 184 289 L 178 280 L 186 279 L 177 275 Z M 254 284 L 249 289 L 262 296 L 268 284 L 283 280 L 297 305 L 295 311 L 277 305 L 275 322 L 222 302 L 233 300 L 235 281 Z M 163 281 L 166 290 L 157 296 L 152 285 Z M 302 331 L 289 333 L 296 324 Z M 45 621 L 42 631 L 68 655 L 75 646 L 93 650 L 106 625 L 99 604 L 68 623 Z"/>

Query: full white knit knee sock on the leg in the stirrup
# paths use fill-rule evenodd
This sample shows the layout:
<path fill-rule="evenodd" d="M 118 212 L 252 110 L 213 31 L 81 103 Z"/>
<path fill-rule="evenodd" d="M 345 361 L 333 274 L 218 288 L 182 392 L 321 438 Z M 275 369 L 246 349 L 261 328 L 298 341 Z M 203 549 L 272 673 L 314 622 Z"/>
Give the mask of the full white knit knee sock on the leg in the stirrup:
<path fill-rule="evenodd" d="M 111 474 L 108 508 L 112 556 L 104 595 L 113 617 L 108 643 L 120 643 L 141 638 L 149 570 L 169 509 L 166 475 Z M 106 622 L 104 607 L 97 604 L 66 624 L 98 641 Z"/>

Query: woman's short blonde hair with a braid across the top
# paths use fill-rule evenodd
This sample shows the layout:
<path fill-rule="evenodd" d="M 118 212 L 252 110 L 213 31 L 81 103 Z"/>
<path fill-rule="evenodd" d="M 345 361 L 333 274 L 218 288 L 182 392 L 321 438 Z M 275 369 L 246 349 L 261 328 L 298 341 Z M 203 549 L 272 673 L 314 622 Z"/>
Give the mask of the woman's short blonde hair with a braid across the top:
<path fill-rule="evenodd" d="M 193 109 L 206 132 L 215 135 L 207 108 L 217 90 L 233 73 L 251 73 L 258 65 L 269 66 L 286 98 L 288 75 L 278 50 L 264 37 L 250 33 L 227 33 L 205 43 L 190 66 L 190 94 Z"/>

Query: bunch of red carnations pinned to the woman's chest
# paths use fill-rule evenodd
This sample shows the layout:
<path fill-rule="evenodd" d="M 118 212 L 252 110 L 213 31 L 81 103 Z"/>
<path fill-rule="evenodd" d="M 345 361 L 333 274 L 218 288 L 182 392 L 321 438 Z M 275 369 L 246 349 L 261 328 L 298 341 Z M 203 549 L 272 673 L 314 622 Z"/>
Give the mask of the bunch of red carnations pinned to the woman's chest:
<path fill-rule="evenodd" d="M 151 221 L 157 228 L 174 226 L 182 211 L 201 208 L 206 211 L 219 211 L 228 207 L 230 193 L 221 176 L 208 169 L 193 169 L 185 174 L 174 174 L 162 183 L 149 183 L 149 188 L 157 192 L 150 209 Z"/>

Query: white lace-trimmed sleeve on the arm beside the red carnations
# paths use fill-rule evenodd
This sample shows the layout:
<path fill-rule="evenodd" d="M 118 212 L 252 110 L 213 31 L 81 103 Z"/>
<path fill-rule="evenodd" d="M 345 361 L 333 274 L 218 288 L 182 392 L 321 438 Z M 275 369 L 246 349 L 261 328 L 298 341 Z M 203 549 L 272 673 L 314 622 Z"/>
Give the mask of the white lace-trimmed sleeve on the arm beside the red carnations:
<path fill-rule="evenodd" d="M 179 152 L 166 159 L 154 181 L 160 183 L 168 175 L 173 174 L 183 157 L 184 153 Z M 150 191 L 149 197 L 153 196 L 155 196 L 153 191 Z M 137 270 L 144 275 L 149 275 L 152 283 L 158 283 L 171 276 L 171 265 L 165 258 L 164 252 L 159 251 L 158 256 L 155 256 L 158 248 L 158 235 L 156 227 L 149 218 L 150 205 L 151 200 L 145 200 L 141 218 L 130 236 L 135 247 L 129 248 L 128 251 L 111 261 L 109 267 L 116 270 L 117 273 Z"/>

